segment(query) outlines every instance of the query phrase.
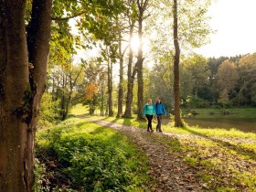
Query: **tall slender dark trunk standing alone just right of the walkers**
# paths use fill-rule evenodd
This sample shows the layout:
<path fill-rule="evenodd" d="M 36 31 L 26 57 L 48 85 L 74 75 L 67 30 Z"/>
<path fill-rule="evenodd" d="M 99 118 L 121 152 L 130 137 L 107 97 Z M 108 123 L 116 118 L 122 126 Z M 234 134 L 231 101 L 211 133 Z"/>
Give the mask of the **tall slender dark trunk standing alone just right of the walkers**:
<path fill-rule="evenodd" d="M 174 96 L 175 96 L 175 126 L 183 126 L 183 123 L 180 118 L 180 103 L 179 103 L 179 58 L 180 58 L 180 49 L 178 44 L 177 37 L 177 5 L 176 0 L 174 0 L 173 6 L 174 12 L 174 44 L 176 49 L 176 55 L 174 60 Z"/>

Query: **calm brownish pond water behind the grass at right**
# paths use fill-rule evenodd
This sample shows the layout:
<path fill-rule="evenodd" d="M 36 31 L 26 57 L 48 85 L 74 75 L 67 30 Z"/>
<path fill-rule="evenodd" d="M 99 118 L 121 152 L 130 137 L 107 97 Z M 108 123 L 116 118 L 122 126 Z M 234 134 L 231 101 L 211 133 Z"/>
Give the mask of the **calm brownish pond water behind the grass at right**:
<path fill-rule="evenodd" d="M 195 115 L 189 118 L 183 118 L 189 126 L 199 126 L 204 128 L 235 128 L 246 133 L 256 133 L 256 117 L 236 117 L 236 116 L 216 116 L 216 115 Z M 163 121 L 169 123 L 168 119 Z"/>

